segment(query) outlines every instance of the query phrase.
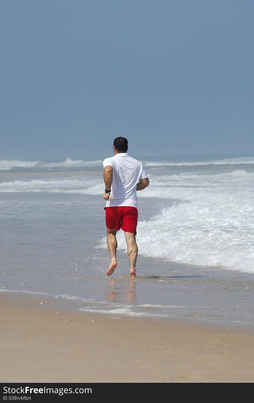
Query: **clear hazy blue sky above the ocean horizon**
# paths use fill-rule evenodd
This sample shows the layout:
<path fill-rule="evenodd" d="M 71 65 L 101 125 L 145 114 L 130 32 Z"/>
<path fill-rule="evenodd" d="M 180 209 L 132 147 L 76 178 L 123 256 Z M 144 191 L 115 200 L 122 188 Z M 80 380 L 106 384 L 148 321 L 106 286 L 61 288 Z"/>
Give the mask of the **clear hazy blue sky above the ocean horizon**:
<path fill-rule="evenodd" d="M 252 0 L 0 0 L 0 159 L 254 155 Z"/>

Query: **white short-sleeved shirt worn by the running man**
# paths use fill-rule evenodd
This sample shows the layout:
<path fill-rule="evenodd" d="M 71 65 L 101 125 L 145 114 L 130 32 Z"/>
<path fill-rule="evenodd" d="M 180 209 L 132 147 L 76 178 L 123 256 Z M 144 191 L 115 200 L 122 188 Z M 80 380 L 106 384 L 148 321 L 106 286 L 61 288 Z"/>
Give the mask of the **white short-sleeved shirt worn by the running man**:
<path fill-rule="evenodd" d="M 140 179 L 147 178 L 141 162 L 130 157 L 126 152 L 103 161 L 103 168 L 113 167 L 113 182 L 106 207 L 132 206 L 138 208 L 136 187 Z"/>

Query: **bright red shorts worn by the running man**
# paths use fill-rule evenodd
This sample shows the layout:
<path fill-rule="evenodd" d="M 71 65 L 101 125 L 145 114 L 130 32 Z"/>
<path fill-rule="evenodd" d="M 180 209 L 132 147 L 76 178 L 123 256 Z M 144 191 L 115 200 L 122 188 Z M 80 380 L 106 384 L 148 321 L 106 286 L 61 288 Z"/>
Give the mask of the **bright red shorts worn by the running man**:
<path fill-rule="evenodd" d="M 105 207 L 106 227 L 137 235 L 138 210 L 132 206 Z"/>

